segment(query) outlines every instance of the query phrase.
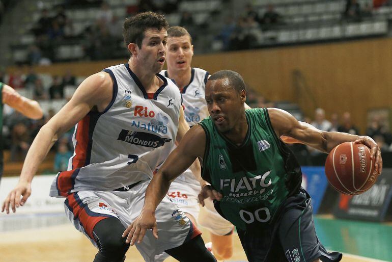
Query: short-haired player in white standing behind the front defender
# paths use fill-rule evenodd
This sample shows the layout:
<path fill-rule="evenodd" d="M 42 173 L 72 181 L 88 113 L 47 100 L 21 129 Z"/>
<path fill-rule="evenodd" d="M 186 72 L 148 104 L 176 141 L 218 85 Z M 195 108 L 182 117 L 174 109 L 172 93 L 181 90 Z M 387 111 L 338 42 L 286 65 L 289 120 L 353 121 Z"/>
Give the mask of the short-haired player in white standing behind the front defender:
<path fill-rule="evenodd" d="M 181 91 L 185 119 L 193 126 L 209 116 L 204 89 L 209 72 L 191 67 L 193 57 L 192 38 L 183 27 L 167 30 L 167 70 L 160 73 L 174 80 Z M 195 166 L 195 165 L 193 165 Z M 195 176 L 193 172 L 198 172 Z M 233 225 L 222 218 L 210 199 L 200 208 L 198 195 L 201 191 L 199 170 L 187 169 L 171 184 L 168 195 L 195 224 L 196 221 L 211 233 L 212 252 L 219 260 L 229 259 L 233 254 Z M 196 178 L 198 177 L 198 178 Z M 211 243 L 208 243 L 211 244 Z"/>

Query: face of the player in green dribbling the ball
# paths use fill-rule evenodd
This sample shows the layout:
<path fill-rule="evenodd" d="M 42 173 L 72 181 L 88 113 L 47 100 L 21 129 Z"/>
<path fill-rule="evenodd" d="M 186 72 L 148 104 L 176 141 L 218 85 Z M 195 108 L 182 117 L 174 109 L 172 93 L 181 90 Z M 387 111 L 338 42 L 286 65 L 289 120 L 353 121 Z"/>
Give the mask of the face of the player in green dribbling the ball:
<path fill-rule="evenodd" d="M 244 112 L 245 91 L 238 93 L 227 78 L 208 81 L 205 90 L 208 112 L 221 133 L 230 132 Z"/>

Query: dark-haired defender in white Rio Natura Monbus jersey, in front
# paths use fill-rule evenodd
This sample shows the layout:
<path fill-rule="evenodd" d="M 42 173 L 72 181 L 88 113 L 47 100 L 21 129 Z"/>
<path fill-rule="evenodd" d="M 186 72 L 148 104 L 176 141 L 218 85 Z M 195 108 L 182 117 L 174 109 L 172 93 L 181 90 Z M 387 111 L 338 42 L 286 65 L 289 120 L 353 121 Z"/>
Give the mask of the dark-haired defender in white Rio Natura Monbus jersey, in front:
<path fill-rule="evenodd" d="M 123 232 L 142 210 L 152 170 L 166 159 L 176 136 L 181 139 L 189 128 L 177 86 L 157 74 L 166 57 L 167 27 L 165 18 L 152 12 L 124 22 L 129 61 L 89 76 L 41 128 L 2 211 L 8 214 L 11 205 L 15 212 L 26 202 L 53 142 L 76 124 L 75 153 L 68 171 L 53 181 L 50 195 L 66 198 L 69 219 L 99 249 L 95 262 L 125 260 L 129 243 Z M 163 251 L 180 261 L 216 261 L 199 230 L 169 197 L 155 217 L 158 229 L 130 243 L 146 261 Z"/>

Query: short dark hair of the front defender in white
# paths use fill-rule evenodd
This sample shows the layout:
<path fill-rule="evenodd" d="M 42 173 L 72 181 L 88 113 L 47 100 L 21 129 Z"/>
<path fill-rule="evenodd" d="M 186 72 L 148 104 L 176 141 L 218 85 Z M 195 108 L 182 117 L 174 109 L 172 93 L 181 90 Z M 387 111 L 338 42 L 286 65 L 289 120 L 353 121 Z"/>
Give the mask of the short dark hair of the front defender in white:
<path fill-rule="evenodd" d="M 154 28 L 167 30 L 169 23 L 163 15 L 154 12 L 139 13 L 135 16 L 125 19 L 123 24 L 123 38 L 125 46 L 129 43 L 136 43 L 139 48 L 142 48 L 142 41 L 147 29 Z M 131 54 L 132 55 L 132 54 Z"/>

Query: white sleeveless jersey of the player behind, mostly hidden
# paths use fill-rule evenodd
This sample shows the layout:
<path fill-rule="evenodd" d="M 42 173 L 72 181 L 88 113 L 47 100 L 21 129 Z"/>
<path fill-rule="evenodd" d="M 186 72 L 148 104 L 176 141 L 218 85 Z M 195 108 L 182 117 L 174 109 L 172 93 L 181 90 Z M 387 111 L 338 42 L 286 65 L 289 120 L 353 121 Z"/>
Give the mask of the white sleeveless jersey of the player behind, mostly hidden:
<path fill-rule="evenodd" d="M 170 77 L 170 75 L 167 74 L 167 70 L 162 70 L 160 74 L 165 77 Z M 189 84 L 181 91 L 185 120 L 189 126 L 195 125 L 209 116 L 204 96 L 204 90 L 206 88 L 209 75 L 210 73 L 206 70 L 192 68 Z M 200 185 L 199 181 L 194 178 L 192 171 L 189 168 L 178 176 L 175 181 L 181 181 L 198 186 Z"/>

